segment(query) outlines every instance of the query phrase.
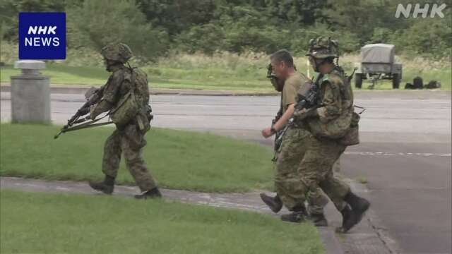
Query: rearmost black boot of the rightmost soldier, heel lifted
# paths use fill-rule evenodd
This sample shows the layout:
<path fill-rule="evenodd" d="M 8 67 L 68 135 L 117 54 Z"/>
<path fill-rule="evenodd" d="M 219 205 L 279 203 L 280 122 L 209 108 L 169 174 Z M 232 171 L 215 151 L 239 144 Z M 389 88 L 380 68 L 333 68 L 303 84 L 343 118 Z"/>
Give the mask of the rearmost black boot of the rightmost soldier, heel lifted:
<path fill-rule="evenodd" d="M 339 229 L 343 233 L 349 231 L 353 226 L 361 222 L 364 213 L 369 209 L 370 203 L 365 198 L 358 197 L 352 192 L 347 193 L 344 198 L 347 205 L 340 213 L 343 216 L 342 228 Z"/>

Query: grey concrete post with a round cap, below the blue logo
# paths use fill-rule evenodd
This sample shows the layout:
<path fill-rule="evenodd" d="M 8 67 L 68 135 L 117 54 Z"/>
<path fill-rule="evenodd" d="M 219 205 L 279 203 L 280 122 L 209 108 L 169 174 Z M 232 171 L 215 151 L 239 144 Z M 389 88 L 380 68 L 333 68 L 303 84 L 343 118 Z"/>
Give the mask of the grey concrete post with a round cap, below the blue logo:
<path fill-rule="evenodd" d="M 49 77 L 41 75 L 43 61 L 20 60 L 14 68 L 22 75 L 11 76 L 11 121 L 13 123 L 50 122 Z"/>

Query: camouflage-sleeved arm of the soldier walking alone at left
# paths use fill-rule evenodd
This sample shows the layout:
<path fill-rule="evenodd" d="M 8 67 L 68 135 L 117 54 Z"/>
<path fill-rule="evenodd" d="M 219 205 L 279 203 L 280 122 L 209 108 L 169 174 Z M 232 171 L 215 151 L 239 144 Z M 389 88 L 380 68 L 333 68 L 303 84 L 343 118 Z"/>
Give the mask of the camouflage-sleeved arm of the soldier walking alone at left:
<path fill-rule="evenodd" d="M 90 111 L 91 119 L 95 119 L 103 112 L 109 111 L 117 104 L 117 100 L 119 99 L 117 95 L 123 80 L 124 76 L 120 72 L 115 72 L 110 75 L 107 84 L 104 85 L 102 99 Z"/>

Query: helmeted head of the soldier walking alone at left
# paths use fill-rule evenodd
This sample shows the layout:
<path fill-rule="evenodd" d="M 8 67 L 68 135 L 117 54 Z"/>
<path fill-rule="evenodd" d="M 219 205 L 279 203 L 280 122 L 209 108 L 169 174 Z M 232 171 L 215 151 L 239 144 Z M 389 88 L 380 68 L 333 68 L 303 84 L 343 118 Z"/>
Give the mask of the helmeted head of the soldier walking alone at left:
<path fill-rule="evenodd" d="M 126 63 L 132 57 L 132 51 L 124 43 L 108 44 L 103 47 L 100 54 L 104 57 L 107 71 L 112 71 L 112 66 Z"/>

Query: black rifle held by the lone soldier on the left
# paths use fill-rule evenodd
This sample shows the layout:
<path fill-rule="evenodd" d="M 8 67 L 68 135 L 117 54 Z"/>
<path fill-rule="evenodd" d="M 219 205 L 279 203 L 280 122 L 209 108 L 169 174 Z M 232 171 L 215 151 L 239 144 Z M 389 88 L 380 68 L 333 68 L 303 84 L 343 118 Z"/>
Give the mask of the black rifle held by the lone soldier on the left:
<path fill-rule="evenodd" d="M 63 128 L 61 128 L 61 131 L 59 131 L 59 133 L 54 136 L 54 139 L 57 139 L 59 137 L 59 135 L 61 135 L 62 133 L 66 133 L 68 131 L 76 131 L 76 130 L 80 130 L 82 128 L 87 128 L 88 126 L 94 127 L 94 126 L 101 126 L 101 125 L 109 124 L 109 123 L 92 124 L 92 123 L 95 123 L 96 121 L 99 121 L 100 119 L 95 119 L 88 123 L 83 123 L 85 121 L 88 121 L 90 119 L 90 116 L 81 118 L 82 116 L 85 116 L 85 114 L 89 114 L 90 107 L 93 106 L 94 104 L 96 104 L 97 102 L 99 102 L 100 99 L 102 99 L 102 95 L 104 93 L 104 87 L 105 87 L 105 85 L 103 85 L 100 88 L 91 87 L 87 92 L 85 92 L 85 99 L 86 99 L 85 104 L 83 104 L 83 106 L 76 111 L 76 114 L 74 114 L 71 117 L 71 119 L 68 120 L 68 123 L 65 126 L 63 126 Z M 77 123 L 83 123 L 83 124 L 81 124 L 79 126 L 73 126 L 74 124 L 77 124 Z"/>

